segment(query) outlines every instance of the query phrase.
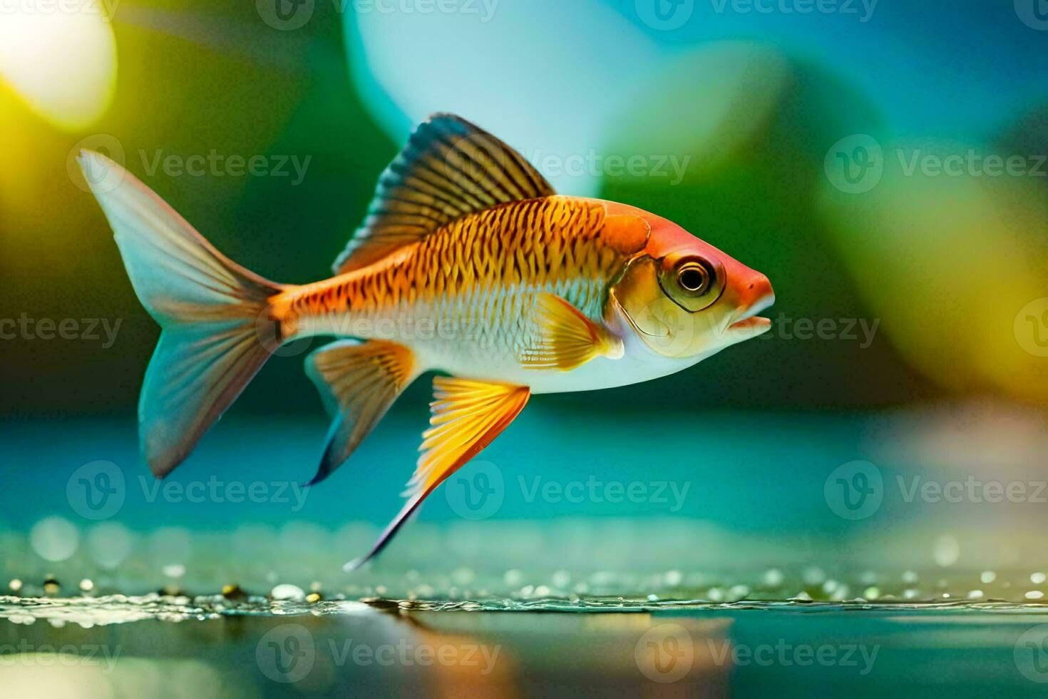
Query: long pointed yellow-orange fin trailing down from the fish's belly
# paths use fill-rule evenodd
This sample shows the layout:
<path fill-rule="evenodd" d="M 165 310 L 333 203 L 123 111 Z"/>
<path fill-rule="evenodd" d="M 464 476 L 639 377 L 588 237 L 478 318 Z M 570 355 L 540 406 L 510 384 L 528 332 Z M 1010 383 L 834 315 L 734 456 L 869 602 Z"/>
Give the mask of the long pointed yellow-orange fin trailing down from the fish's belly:
<path fill-rule="evenodd" d="M 430 403 L 429 430 L 422 433 L 415 475 L 408 483 L 408 502 L 393 519 L 371 551 L 347 563 L 352 571 L 383 550 L 408 517 L 428 495 L 476 456 L 514 421 L 531 395 L 526 386 L 488 384 L 437 376 L 433 379 L 436 398 Z"/>

